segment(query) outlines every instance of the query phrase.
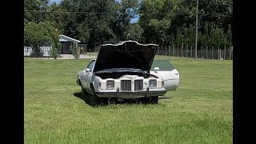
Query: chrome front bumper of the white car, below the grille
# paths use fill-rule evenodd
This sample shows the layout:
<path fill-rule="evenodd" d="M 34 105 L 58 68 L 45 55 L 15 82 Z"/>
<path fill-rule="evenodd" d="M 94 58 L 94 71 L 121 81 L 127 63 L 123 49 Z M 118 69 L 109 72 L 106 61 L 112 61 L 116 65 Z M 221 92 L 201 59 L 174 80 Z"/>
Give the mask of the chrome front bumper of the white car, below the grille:
<path fill-rule="evenodd" d="M 152 96 L 163 96 L 166 94 L 166 90 L 139 90 L 139 91 L 119 91 L 119 90 L 98 90 L 96 95 L 102 98 L 145 98 Z"/>

